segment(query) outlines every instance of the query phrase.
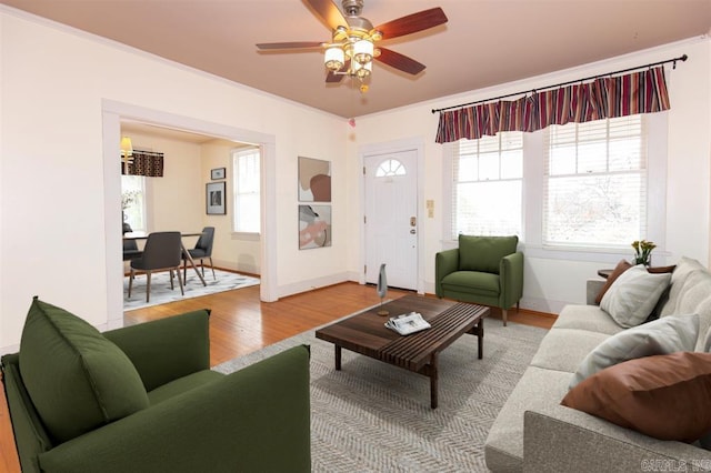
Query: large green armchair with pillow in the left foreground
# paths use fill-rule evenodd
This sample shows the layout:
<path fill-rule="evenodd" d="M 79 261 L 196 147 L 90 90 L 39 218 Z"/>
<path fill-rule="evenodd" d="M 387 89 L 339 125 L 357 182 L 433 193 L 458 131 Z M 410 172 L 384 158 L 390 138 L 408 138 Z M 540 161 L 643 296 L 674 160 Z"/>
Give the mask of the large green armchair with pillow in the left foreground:
<path fill-rule="evenodd" d="M 209 312 L 100 333 L 32 302 L 2 381 L 23 472 L 308 472 L 309 349 L 224 375 Z"/>

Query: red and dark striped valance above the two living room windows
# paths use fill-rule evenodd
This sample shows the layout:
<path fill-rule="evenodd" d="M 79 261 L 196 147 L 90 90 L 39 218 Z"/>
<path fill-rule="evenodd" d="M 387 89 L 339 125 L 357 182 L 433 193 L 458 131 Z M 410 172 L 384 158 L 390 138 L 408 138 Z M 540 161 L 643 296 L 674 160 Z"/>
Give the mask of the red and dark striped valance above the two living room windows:
<path fill-rule="evenodd" d="M 499 100 L 440 111 L 438 143 L 475 140 L 501 131 L 538 131 L 551 124 L 668 110 L 664 68 L 595 78 L 557 89 L 533 91 L 518 100 Z"/>

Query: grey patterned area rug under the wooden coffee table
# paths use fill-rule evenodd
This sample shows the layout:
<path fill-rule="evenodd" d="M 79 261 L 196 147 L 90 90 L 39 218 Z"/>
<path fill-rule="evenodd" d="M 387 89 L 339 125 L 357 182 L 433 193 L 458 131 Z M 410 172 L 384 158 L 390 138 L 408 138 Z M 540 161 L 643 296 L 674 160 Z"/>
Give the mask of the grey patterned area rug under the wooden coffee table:
<path fill-rule="evenodd" d="M 314 472 L 485 472 L 483 445 L 497 413 L 547 331 L 487 320 L 484 356 L 463 335 L 440 354 L 439 406 L 429 379 L 343 350 L 309 331 L 214 368 L 231 373 L 289 346 L 311 345 Z"/>

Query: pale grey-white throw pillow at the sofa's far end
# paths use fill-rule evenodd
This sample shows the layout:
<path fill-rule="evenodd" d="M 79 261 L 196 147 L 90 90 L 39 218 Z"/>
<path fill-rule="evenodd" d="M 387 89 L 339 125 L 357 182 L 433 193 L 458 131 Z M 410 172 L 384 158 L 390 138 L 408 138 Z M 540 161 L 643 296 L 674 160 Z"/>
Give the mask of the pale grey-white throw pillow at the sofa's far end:
<path fill-rule="evenodd" d="M 643 264 L 638 264 L 612 283 L 600 301 L 600 309 L 620 326 L 639 325 L 652 313 L 670 281 L 671 273 L 652 274 Z"/>

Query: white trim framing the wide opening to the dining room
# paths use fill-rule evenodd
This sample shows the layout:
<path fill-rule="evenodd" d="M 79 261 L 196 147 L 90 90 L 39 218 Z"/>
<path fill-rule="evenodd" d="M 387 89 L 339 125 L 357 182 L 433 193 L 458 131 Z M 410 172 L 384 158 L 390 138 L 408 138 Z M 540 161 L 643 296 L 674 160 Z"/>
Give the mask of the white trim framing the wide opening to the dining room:
<path fill-rule="evenodd" d="M 274 209 L 277 202 L 274 135 L 108 99 L 102 100 L 101 109 L 103 119 L 104 240 L 107 244 L 107 316 L 109 328 L 122 325 L 123 320 L 123 266 L 119 256 L 121 234 L 119 227 L 121 219 L 120 207 L 116 204 L 121 197 L 120 174 L 116 171 L 118 169 L 116 150 L 119 149 L 121 119 L 137 120 L 148 124 L 261 145 L 261 238 L 264 244 L 261 245 L 260 299 L 264 302 L 277 301 L 279 299 L 277 293 L 277 218 L 276 212 L 264 211 L 266 209 Z"/>

